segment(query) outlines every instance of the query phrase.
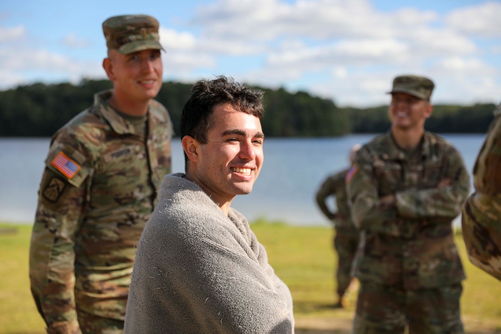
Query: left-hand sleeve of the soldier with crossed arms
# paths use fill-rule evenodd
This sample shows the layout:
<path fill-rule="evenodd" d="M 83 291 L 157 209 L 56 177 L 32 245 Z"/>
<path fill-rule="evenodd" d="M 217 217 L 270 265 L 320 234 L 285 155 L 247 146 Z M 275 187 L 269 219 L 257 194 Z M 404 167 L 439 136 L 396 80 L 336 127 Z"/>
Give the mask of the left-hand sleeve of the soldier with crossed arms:
<path fill-rule="evenodd" d="M 361 149 L 356 153 L 354 164 L 346 174 L 346 190 L 353 222 L 358 229 L 398 234 L 396 208 L 380 201 L 377 179 L 372 173 L 369 155 L 364 152 Z"/>

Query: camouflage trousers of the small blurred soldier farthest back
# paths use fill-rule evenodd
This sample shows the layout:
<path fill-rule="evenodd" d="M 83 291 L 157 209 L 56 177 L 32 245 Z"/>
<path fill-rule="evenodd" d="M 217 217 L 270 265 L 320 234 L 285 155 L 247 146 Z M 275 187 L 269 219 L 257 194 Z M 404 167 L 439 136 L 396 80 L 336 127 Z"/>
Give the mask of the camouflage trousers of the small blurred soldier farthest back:
<path fill-rule="evenodd" d="M 337 228 L 334 237 L 334 248 L 338 253 L 338 267 L 336 270 L 336 280 L 338 282 L 337 294 L 339 300 L 343 297 L 351 281 L 351 267 L 357 252 L 359 233 L 357 230 L 347 230 Z"/>

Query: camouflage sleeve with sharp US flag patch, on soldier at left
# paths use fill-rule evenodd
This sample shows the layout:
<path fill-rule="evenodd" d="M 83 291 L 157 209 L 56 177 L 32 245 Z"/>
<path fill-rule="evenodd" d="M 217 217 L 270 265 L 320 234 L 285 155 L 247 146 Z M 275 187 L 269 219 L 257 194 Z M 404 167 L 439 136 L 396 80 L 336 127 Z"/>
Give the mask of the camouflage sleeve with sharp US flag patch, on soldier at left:
<path fill-rule="evenodd" d="M 30 247 L 30 280 L 49 333 L 80 332 L 74 298 L 74 244 L 90 182 L 90 170 L 81 164 L 82 157 L 70 147 L 53 144 L 39 190 Z"/>

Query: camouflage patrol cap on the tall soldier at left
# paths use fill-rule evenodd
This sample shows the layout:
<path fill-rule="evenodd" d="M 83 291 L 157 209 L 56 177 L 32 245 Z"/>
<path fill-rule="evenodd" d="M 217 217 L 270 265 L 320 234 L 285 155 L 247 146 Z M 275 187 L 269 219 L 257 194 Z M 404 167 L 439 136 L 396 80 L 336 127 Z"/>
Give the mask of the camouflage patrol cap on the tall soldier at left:
<path fill-rule="evenodd" d="M 158 27 L 158 21 L 148 15 L 111 17 L 103 22 L 106 46 L 124 55 L 147 49 L 163 50 Z"/>

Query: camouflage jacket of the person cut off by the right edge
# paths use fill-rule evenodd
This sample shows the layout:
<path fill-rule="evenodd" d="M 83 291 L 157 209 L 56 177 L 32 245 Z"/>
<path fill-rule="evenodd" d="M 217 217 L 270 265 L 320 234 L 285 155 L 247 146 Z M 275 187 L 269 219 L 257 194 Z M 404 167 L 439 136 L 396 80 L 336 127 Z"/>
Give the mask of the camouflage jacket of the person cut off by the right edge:
<path fill-rule="evenodd" d="M 494 110 L 473 168 L 475 193 L 463 205 L 462 232 L 468 256 L 501 280 L 501 105 Z"/>

